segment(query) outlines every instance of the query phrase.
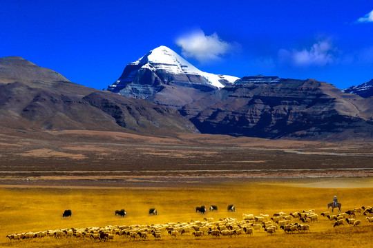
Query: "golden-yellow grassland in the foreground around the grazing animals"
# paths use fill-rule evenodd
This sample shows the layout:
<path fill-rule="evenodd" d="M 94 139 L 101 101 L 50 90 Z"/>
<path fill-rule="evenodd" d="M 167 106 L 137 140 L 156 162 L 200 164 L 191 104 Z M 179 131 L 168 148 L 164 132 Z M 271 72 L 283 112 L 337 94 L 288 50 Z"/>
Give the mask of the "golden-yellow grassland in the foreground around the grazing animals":
<path fill-rule="evenodd" d="M 366 179 L 365 179 L 366 181 Z M 371 180 L 370 180 L 371 181 Z M 301 180 L 300 180 L 301 182 Z M 342 211 L 373 205 L 372 187 L 316 188 L 294 187 L 284 183 L 229 183 L 191 185 L 190 187 L 153 189 L 55 189 L 55 188 L 1 188 L 0 187 L 0 247 L 372 247 L 373 225 L 365 216 L 356 216 L 361 226 L 333 227 L 334 222 L 319 217 L 311 224 L 310 234 L 269 235 L 254 231 L 253 236 L 212 238 L 178 236 L 175 240 L 164 234 L 162 240 L 133 241 L 115 236 L 111 242 L 94 242 L 77 238 L 41 238 L 10 241 L 7 234 L 51 229 L 105 227 L 107 225 L 151 225 L 169 222 L 203 220 L 204 217 L 231 217 L 242 220 L 242 214 L 290 213 L 315 209 L 316 214 L 327 211 L 327 203 L 334 195 L 343 204 Z M 234 204 L 236 212 L 228 212 Z M 202 215 L 195 207 L 218 205 L 217 212 Z M 150 207 L 156 207 L 158 216 L 149 216 Z M 116 209 L 126 209 L 127 216 L 115 216 Z M 71 218 L 62 218 L 64 209 L 71 209 Z M 299 220 L 298 220 L 299 221 Z"/>

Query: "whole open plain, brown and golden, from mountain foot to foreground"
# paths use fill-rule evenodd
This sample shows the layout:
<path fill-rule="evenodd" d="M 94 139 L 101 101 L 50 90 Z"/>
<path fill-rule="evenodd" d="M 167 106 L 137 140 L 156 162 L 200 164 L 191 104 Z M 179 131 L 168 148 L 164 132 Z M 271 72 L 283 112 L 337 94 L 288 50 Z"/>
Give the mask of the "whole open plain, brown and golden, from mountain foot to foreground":
<path fill-rule="evenodd" d="M 334 195 L 342 212 L 372 206 L 370 143 L 269 141 L 205 134 L 147 137 L 116 132 L 6 132 L 0 136 L 0 247 L 371 247 L 373 225 L 321 216 Z M 236 212 L 227 211 L 234 204 Z M 200 214 L 196 206 L 217 205 Z M 159 215 L 148 214 L 156 207 Z M 73 215 L 62 218 L 65 209 Z M 126 209 L 126 216 L 115 210 Z M 314 209 L 310 232 L 213 238 L 192 234 L 132 240 L 9 240 L 9 234 L 56 229 L 193 223 L 242 214 Z M 329 209 L 330 210 L 330 209 Z M 233 220 L 233 219 L 231 219 Z M 292 223 L 301 223 L 297 218 Z M 177 225 L 180 225 L 177 224 Z"/>

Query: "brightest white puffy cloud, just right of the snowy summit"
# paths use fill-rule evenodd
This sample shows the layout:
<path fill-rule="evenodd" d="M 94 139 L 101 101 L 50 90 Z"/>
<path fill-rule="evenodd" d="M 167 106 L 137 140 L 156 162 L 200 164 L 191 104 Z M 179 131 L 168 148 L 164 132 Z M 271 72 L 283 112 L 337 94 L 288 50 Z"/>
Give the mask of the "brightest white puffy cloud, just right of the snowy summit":
<path fill-rule="evenodd" d="M 223 41 L 216 32 L 206 35 L 200 29 L 179 37 L 176 44 L 182 48 L 183 56 L 195 58 L 201 63 L 219 61 L 224 54 L 233 52 L 238 46 L 236 43 Z"/>

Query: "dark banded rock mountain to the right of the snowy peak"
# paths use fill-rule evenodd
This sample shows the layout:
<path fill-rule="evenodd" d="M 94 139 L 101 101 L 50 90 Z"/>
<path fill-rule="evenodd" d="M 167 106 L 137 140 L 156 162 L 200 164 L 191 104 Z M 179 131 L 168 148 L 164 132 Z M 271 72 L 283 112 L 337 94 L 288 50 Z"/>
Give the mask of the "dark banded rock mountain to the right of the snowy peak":
<path fill-rule="evenodd" d="M 200 132 L 209 134 L 316 139 L 366 132 L 373 136 L 369 104 L 360 96 L 313 79 L 263 79 L 244 77 L 180 112 Z"/>

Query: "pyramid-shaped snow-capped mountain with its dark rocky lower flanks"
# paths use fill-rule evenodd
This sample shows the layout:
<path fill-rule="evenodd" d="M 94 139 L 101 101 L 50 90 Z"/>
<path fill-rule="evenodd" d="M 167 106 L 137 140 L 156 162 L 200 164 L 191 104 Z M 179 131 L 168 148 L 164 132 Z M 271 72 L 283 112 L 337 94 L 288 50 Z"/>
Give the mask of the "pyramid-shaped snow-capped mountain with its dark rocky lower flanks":
<path fill-rule="evenodd" d="M 200 99 L 239 79 L 202 72 L 170 48 L 161 45 L 129 63 L 108 90 L 132 98 L 175 107 Z M 203 92 L 203 94 L 202 94 Z"/>

